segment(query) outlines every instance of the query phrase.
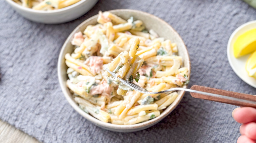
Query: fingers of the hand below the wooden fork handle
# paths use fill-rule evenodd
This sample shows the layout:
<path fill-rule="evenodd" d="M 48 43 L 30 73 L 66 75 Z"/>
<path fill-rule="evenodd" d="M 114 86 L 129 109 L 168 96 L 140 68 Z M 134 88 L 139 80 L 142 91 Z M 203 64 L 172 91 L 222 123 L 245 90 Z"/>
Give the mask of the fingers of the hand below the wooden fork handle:
<path fill-rule="evenodd" d="M 232 112 L 233 118 L 242 123 L 241 136 L 237 143 L 256 143 L 256 109 L 252 107 L 236 108 Z"/>

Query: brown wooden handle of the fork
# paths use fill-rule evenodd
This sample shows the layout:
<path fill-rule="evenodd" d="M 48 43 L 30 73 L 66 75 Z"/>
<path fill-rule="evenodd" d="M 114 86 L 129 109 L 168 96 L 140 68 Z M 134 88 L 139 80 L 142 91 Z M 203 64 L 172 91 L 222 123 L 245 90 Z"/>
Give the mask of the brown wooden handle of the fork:
<path fill-rule="evenodd" d="M 197 86 L 197 85 L 192 86 L 190 89 L 213 93 L 213 94 L 219 94 L 219 95 L 228 96 L 228 97 L 233 97 L 233 98 L 237 98 L 240 100 L 236 101 L 236 100 L 232 100 L 232 99 L 225 99 L 222 97 L 214 97 L 214 96 L 204 95 L 204 94 L 200 94 L 200 93 L 190 92 L 191 96 L 194 98 L 200 98 L 200 99 L 216 101 L 216 102 L 221 102 L 221 103 L 227 103 L 227 104 L 232 104 L 232 105 L 249 106 L 249 107 L 256 108 L 256 95 L 249 95 L 249 94 L 244 94 L 244 93 L 226 91 L 226 90 Z M 249 102 L 246 102 L 245 100 L 249 101 Z M 253 103 L 253 102 L 255 102 L 255 103 Z"/>

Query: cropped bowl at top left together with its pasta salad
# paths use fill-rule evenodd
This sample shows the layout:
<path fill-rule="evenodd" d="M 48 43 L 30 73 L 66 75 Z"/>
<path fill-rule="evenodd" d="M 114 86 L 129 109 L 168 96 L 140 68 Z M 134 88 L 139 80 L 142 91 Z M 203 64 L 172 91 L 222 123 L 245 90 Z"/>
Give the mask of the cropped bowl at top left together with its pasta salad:
<path fill-rule="evenodd" d="M 89 11 L 98 0 L 6 0 L 24 18 L 37 23 L 60 24 Z"/>

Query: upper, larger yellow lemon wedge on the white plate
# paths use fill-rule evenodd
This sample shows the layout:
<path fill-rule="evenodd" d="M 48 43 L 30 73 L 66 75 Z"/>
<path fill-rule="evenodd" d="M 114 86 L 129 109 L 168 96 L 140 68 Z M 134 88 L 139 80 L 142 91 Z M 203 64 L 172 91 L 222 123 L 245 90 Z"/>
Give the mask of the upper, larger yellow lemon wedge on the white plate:
<path fill-rule="evenodd" d="M 256 28 L 240 35 L 234 43 L 234 56 L 244 56 L 256 50 Z"/>

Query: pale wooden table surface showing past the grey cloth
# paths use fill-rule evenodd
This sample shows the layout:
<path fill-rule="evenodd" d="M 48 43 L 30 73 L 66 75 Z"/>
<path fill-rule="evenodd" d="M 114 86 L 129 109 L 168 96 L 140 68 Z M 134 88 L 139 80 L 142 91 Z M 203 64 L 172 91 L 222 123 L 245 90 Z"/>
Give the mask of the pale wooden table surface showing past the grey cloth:
<path fill-rule="evenodd" d="M 0 120 L 0 143 L 40 143 L 35 138 Z"/>

